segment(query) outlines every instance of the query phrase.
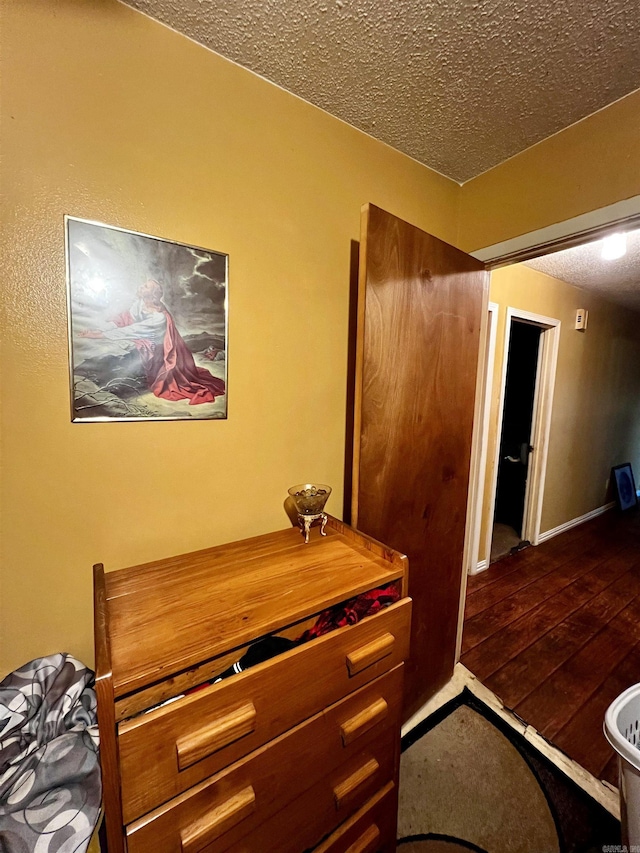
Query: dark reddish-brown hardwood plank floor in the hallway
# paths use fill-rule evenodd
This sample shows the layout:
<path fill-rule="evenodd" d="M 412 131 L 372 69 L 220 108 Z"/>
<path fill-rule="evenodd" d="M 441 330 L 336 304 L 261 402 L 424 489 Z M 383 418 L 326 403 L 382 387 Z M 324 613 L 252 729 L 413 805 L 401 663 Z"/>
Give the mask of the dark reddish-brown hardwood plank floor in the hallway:
<path fill-rule="evenodd" d="M 613 699 L 640 682 L 640 511 L 612 510 L 470 577 L 462 663 L 617 785 L 602 723 Z"/>

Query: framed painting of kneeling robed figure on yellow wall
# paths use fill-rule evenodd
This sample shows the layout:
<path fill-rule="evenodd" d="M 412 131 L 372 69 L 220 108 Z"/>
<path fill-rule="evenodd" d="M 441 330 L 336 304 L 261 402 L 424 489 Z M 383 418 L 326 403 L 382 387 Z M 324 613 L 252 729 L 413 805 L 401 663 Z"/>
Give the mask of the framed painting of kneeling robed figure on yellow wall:
<path fill-rule="evenodd" d="M 227 417 L 228 256 L 65 216 L 74 422 Z"/>

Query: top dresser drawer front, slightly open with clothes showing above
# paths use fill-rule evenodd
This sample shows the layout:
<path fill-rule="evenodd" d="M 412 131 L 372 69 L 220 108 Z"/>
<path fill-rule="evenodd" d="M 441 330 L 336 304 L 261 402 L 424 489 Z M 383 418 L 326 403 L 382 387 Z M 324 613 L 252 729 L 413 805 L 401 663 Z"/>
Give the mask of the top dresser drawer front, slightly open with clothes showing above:
<path fill-rule="evenodd" d="M 408 655 L 411 601 L 121 723 L 124 822 L 338 701 Z"/>

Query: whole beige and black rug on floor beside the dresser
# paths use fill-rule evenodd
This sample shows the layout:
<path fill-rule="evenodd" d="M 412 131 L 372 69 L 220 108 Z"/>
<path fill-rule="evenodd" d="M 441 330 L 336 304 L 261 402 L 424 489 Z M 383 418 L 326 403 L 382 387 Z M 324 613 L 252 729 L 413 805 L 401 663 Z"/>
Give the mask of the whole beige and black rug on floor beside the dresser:
<path fill-rule="evenodd" d="M 467 688 L 402 748 L 398 853 L 620 846 L 619 821 Z"/>

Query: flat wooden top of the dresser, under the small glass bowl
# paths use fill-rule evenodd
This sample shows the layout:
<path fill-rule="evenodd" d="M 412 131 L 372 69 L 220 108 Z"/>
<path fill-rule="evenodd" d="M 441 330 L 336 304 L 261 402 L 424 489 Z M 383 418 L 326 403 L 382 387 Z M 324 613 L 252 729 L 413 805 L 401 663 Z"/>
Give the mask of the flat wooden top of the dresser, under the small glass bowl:
<path fill-rule="evenodd" d="M 290 528 L 105 575 L 116 696 L 401 578 L 344 534 Z"/>

